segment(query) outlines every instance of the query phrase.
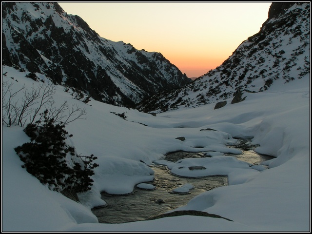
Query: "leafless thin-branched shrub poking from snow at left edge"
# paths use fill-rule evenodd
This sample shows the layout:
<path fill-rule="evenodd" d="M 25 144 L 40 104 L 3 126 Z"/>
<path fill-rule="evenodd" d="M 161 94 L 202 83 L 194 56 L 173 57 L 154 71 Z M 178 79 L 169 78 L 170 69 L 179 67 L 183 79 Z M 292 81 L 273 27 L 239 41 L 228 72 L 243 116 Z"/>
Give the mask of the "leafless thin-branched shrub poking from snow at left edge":
<path fill-rule="evenodd" d="M 2 83 L 2 124 L 8 127 L 33 124 L 42 119 L 39 113 L 44 110 L 48 110 L 48 117 L 60 125 L 86 115 L 84 108 L 79 108 L 78 105 L 70 107 L 66 101 L 56 107 L 53 99 L 56 88 L 53 84 L 42 83 L 38 87 L 33 85 L 30 90 L 23 85 L 17 91 L 13 91 L 12 86 L 13 82 Z"/>

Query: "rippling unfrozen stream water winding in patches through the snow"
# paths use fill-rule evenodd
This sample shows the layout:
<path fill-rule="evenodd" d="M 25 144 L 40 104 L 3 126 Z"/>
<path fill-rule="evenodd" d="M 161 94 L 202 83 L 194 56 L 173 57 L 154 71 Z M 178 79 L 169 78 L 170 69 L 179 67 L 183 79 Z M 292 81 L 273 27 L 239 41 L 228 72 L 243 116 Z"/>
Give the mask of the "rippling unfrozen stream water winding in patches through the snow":
<path fill-rule="evenodd" d="M 259 164 L 272 159 L 272 156 L 256 154 L 247 140 L 239 139 L 235 147 L 243 153 L 235 156 L 251 164 Z M 172 152 L 166 155 L 166 160 L 176 162 L 182 158 L 206 157 L 205 152 Z M 155 171 L 153 181 L 145 182 L 155 189 L 147 190 L 136 187 L 131 195 L 109 195 L 101 193 L 101 198 L 106 201 L 107 206 L 94 208 L 92 212 L 98 217 L 99 223 L 126 223 L 142 221 L 156 215 L 186 205 L 193 197 L 203 192 L 228 185 L 227 176 L 206 176 L 201 178 L 179 177 L 169 173 L 166 166 L 150 165 Z M 193 185 L 193 189 L 186 193 L 175 193 L 173 190 L 183 185 Z M 153 185 L 153 186 L 152 186 Z"/>

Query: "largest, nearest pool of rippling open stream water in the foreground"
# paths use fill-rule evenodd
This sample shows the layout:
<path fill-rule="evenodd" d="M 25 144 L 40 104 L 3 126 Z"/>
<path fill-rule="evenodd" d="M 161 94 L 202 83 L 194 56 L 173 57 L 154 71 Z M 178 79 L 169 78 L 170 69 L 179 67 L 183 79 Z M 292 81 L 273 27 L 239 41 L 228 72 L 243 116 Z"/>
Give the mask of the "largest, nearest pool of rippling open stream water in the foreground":
<path fill-rule="evenodd" d="M 177 207 L 186 205 L 195 195 L 228 184 L 227 176 L 209 176 L 205 178 L 184 178 L 168 174 L 162 165 L 153 165 L 155 179 L 151 182 L 156 190 L 141 190 L 136 188 L 132 195 L 112 196 L 102 193 L 102 199 L 108 206 L 93 209 L 99 223 L 125 223 L 145 220 L 155 215 L 161 215 Z M 192 184 L 194 189 L 189 194 L 174 194 L 173 189 L 184 184 Z M 161 199 L 164 202 L 158 203 Z"/>

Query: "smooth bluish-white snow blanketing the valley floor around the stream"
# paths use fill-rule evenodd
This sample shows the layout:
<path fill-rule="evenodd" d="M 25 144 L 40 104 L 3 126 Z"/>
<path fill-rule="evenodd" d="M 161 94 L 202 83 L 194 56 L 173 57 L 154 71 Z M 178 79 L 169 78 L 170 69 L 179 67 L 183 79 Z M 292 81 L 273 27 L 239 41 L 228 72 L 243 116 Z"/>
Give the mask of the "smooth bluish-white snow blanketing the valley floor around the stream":
<path fill-rule="evenodd" d="M 27 87 L 40 84 L 25 78 L 27 73 L 2 66 L 2 74 L 5 72 L 2 82 L 12 81 L 14 89 L 24 83 Z M 308 75 L 288 83 L 274 82 L 269 90 L 248 93 L 244 101 L 220 109 L 207 104 L 156 117 L 95 100 L 85 104 L 64 92 L 64 87 L 56 88 L 56 103 L 66 100 L 86 109 L 86 119 L 77 119 L 65 129 L 74 135 L 70 142 L 78 154 L 98 157 L 92 190 L 78 194 L 81 203 L 50 191 L 21 168 L 14 148 L 29 141 L 23 128 L 2 125 L 3 232 L 310 231 Z M 125 113 L 126 119 L 114 113 Z M 208 128 L 216 131 L 203 131 Z M 236 142 L 234 137 L 252 138 L 253 144 L 260 145 L 256 152 L 276 158 L 262 163 L 266 169 L 224 156 L 240 153 L 227 147 Z M 211 157 L 176 163 L 164 160 L 166 153 L 180 150 L 209 152 Z M 100 192 L 128 194 L 137 184 L 145 187 L 144 182 L 154 178 L 148 166 L 153 163 L 167 165 L 172 173 L 182 176 L 227 175 L 228 186 L 195 196 L 177 210 L 203 211 L 233 221 L 183 215 L 124 224 L 98 223 L 91 208 L 106 204 Z M 190 170 L 192 166 L 197 169 Z M 190 189 L 190 185 L 176 188 Z"/>

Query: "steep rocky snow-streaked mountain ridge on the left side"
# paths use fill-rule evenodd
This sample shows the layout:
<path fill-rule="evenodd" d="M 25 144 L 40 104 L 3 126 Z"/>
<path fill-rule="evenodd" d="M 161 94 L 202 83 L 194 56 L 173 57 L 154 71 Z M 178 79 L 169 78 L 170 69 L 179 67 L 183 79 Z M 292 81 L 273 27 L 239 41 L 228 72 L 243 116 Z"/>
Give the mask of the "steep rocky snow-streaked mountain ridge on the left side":
<path fill-rule="evenodd" d="M 101 38 L 56 2 L 2 2 L 2 65 L 113 105 L 192 81 L 160 53 Z"/>

